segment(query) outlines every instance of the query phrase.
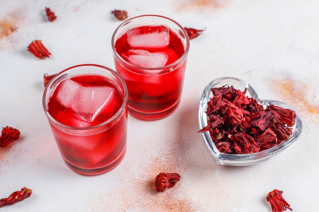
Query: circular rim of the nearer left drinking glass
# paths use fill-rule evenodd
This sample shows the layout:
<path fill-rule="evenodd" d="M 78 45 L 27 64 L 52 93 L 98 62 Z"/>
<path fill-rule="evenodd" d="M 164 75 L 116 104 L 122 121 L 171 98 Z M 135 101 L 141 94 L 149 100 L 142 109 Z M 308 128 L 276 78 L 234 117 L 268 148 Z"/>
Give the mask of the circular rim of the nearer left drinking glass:
<path fill-rule="evenodd" d="M 124 98 L 123 98 L 123 102 L 122 102 L 122 105 L 120 107 L 120 109 L 109 119 L 105 120 L 105 122 L 102 122 L 98 125 L 94 125 L 94 126 L 90 126 L 90 127 L 71 127 L 71 126 L 68 126 L 68 125 L 64 125 L 62 124 L 61 122 L 58 122 L 58 120 L 56 120 L 54 117 L 52 117 L 49 112 L 48 112 L 48 108 L 46 106 L 46 102 L 45 102 L 45 99 L 46 99 L 46 96 L 47 96 L 47 92 L 48 92 L 48 88 L 59 78 L 61 77 L 66 71 L 69 71 L 71 69 L 74 69 L 74 68 L 78 68 L 78 67 L 84 67 L 84 66 L 91 66 L 91 67 L 98 67 L 98 68 L 101 68 L 101 69 L 105 69 L 109 72 L 111 72 L 111 74 L 113 74 L 116 78 L 118 78 L 120 80 L 120 82 L 122 83 L 123 85 L 123 91 L 124 91 Z M 56 88 L 55 88 L 56 89 Z M 63 127 L 63 128 L 66 128 L 66 129 L 69 129 L 69 130 L 91 130 L 91 129 L 96 129 L 96 128 L 100 128 L 100 127 L 103 127 L 109 123 L 112 123 L 122 112 L 123 110 L 125 109 L 126 107 L 126 103 L 127 103 L 127 99 L 128 99 L 128 92 L 127 92 L 127 87 L 126 87 L 126 84 L 123 80 L 123 78 L 117 73 L 115 72 L 114 70 L 108 68 L 108 67 L 105 67 L 105 66 L 101 66 L 101 65 L 96 65 L 96 64 L 81 64 L 81 65 L 76 65 L 76 66 L 72 66 L 72 67 L 69 67 L 61 72 L 59 72 L 58 74 L 56 74 L 50 81 L 49 83 L 46 85 L 45 89 L 44 89 L 44 92 L 43 92 L 43 96 L 42 96 L 42 106 L 43 106 L 43 109 L 44 109 L 44 112 L 46 114 L 46 116 L 48 117 L 49 120 L 51 120 L 51 122 L 54 122 L 55 124 L 59 125 L 60 127 Z"/>

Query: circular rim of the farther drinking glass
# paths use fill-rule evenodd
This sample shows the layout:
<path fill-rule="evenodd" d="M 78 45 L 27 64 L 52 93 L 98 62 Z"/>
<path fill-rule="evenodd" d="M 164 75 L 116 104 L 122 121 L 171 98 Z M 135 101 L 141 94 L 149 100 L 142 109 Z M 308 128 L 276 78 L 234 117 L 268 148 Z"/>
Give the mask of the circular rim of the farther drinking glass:
<path fill-rule="evenodd" d="M 131 63 L 128 63 L 125 59 L 123 59 L 116 51 L 115 49 L 115 34 L 119 31 L 119 29 L 126 25 L 129 21 L 133 20 L 133 19 L 138 19 L 138 18 L 141 18 L 141 17 L 159 17 L 159 18 L 164 18 L 164 19 L 167 19 L 169 21 L 172 21 L 173 23 L 175 23 L 179 29 L 181 30 L 181 32 L 183 33 L 185 39 L 186 39 L 186 47 L 185 47 L 185 51 L 184 53 L 174 62 L 174 63 L 171 63 L 169 65 L 166 65 L 166 66 L 162 66 L 162 67 L 156 67 L 156 68 L 145 68 L 145 67 L 141 67 L 141 66 L 136 66 L 134 64 L 131 64 Z M 161 16 L 161 15 L 140 15 L 140 16 L 136 16 L 136 17 L 132 17 L 130 19 L 127 19 L 126 21 L 124 21 L 123 23 L 121 23 L 114 31 L 113 33 L 113 36 L 112 36 L 112 50 L 113 50 L 113 53 L 115 54 L 115 56 L 117 58 L 119 58 L 121 60 L 121 62 L 123 62 L 125 65 L 129 66 L 129 67 L 132 67 L 132 68 L 136 68 L 136 69 L 141 69 L 143 71 L 153 71 L 153 70 L 158 70 L 158 69 L 170 69 L 172 67 L 174 67 L 176 64 L 180 63 L 188 54 L 189 50 L 190 50 L 190 39 L 189 39 L 189 36 L 187 34 L 187 32 L 185 31 L 185 29 L 179 24 L 177 23 L 176 21 L 174 21 L 173 19 L 170 19 L 168 17 L 165 17 L 165 16 Z M 163 73 L 164 74 L 164 73 Z"/>

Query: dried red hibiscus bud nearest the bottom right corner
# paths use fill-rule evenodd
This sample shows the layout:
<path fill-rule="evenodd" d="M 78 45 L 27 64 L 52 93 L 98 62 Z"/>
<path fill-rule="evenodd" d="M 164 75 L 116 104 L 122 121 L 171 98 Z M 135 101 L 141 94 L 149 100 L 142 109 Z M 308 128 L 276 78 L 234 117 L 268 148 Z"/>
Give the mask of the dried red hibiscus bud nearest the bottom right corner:
<path fill-rule="evenodd" d="M 273 212 L 282 212 L 286 209 L 293 211 L 290 208 L 290 204 L 282 197 L 283 191 L 279 191 L 275 189 L 274 191 L 269 192 L 266 199 L 269 201 L 270 205 L 272 206 Z"/>

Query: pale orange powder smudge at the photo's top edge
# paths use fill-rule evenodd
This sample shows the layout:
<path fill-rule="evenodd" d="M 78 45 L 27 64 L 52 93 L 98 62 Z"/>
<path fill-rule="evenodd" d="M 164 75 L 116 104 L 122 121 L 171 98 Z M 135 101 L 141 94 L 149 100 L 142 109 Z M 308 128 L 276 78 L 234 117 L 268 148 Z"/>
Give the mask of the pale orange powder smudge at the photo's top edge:
<path fill-rule="evenodd" d="M 224 7 L 226 1 L 221 0 L 177 0 L 176 9 L 179 10 L 201 10 L 218 9 Z"/>

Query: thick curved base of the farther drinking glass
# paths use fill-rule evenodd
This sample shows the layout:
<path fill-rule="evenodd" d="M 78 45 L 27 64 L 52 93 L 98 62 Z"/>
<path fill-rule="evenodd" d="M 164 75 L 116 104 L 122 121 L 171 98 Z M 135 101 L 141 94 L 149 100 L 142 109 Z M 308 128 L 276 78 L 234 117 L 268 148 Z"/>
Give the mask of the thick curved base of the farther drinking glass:
<path fill-rule="evenodd" d="M 165 118 L 172 114 L 177 109 L 179 102 L 180 100 L 178 100 L 172 107 L 168 108 L 167 110 L 158 113 L 143 113 L 141 111 L 137 111 L 134 108 L 129 107 L 128 105 L 128 113 L 142 120 L 157 120 Z"/>

